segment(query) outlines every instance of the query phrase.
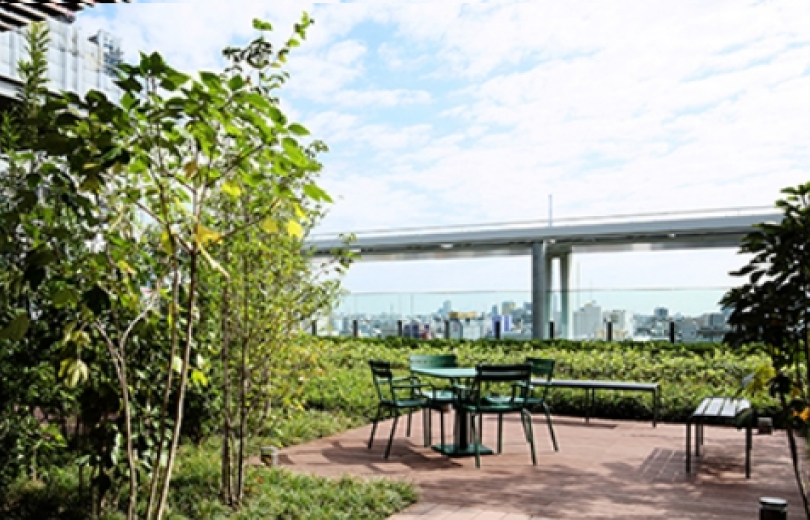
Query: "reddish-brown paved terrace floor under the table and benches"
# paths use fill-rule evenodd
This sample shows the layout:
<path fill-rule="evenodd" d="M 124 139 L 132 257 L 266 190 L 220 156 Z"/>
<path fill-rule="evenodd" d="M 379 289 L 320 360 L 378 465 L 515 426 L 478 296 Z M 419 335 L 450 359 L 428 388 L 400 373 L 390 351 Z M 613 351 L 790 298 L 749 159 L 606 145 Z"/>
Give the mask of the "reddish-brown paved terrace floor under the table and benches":
<path fill-rule="evenodd" d="M 434 442 L 438 438 L 434 415 Z M 718 518 L 758 516 L 758 499 L 785 498 L 799 515 L 784 432 L 754 435 L 751 479 L 744 474 L 742 430 L 706 427 L 705 452 L 684 468 L 685 426 L 557 417 L 560 451 L 554 452 L 544 421 L 535 418 L 537 466 L 532 466 L 517 417 L 504 420 L 504 449 L 482 458 L 444 457 L 422 446 L 421 416 L 405 436 L 400 420 L 388 460 L 383 459 L 391 421 L 380 424 L 373 449 L 370 426 L 281 451 L 293 471 L 404 479 L 420 501 L 393 519 L 517 520 L 529 518 Z M 484 424 L 484 444 L 495 446 L 494 418 Z M 695 461 L 695 459 L 693 459 Z M 696 472 L 695 472 L 696 471 Z"/>

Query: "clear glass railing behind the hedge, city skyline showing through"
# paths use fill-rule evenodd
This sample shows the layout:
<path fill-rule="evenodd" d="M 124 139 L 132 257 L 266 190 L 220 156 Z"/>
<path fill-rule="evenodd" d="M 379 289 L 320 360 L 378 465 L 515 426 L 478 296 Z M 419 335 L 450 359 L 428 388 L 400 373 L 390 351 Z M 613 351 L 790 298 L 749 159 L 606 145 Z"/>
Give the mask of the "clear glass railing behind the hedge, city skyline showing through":
<path fill-rule="evenodd" d="M 560 291 L 548 295 L 544 337 L 721 341 L 719 301 L 728 287 L 572 290 L 567 319 Z M 310 324 L 310 327 L 312 324 Z M 529 291 L 354 293 L 314 323 L 319 335 L 532 338 Z"/>

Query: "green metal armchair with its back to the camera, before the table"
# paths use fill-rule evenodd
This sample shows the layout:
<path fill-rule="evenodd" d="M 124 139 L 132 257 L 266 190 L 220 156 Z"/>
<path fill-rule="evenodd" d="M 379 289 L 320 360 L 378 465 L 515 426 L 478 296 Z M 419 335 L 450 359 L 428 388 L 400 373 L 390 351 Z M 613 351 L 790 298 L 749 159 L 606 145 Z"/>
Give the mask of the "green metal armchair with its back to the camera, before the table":
<path fill-rule="evenodd" d="M 519 413 L 526 442 L 532 452 L 532 464 L 537 465 L 534 452 L 534 433 L 532 431 L 532 414 L 527 399 L 530 394 L 532 365 L 529 363 L 514 365 L 478 365 L 475 367 L 475 379 L 469 386 L 454 385 L 456 407 L 470 415 L 473 444 L 475 445 L 475 467 L 481 467 L 481 429 L 482 418 L 487 414 L 498 416 L 498 453 L 503 448 L 503 416 Z M 511 388 L 511 395 L 498 395 L 493 387 Z M 476 427 L 476 417 L 478 426 Z"/>

